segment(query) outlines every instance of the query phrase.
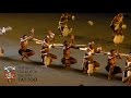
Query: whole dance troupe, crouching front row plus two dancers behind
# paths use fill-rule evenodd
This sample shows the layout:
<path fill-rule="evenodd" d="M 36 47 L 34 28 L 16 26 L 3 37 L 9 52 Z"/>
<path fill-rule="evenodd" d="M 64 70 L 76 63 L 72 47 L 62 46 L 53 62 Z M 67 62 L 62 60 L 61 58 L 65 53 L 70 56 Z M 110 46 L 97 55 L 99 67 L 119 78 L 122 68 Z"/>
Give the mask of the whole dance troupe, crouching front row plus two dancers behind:
<path fill-rule="evenodd" d="M 21 48 L 19 50 L 20 56 L 22 57 L 22 61 L 25 59 L 29 60 L 31 56 L 34 56 L 35 52 L 31 49 L 28 49 L 28 40 L 34 40 L 36 44 L 41 45 L 40 49 L 40 58 L 41 62 L 45 68 L 50 65 L 55 59 L 57 59 L 56 54 L 50 53 L 50 48 L 56 48 L 56 47 L 62 47 L 63 49 L 63 54 L 61 58 L 61 63 L 64 64 L 66 69 L 70 69 L 72 64 L 78 63 L 78 60 L 71 56 L 71 48 L 73 49 L 82 49 L 80 46 L 76 46 L 74 44 L 74 35 L 71 35 L 70 33 L 72 32 L 72 27 L 68 26 L 69 20 L 72 17 L 74 20 L 74 15 L 71 14 L 62 14 L 59 21 L 59 27 L 58 29 L 60 30 L 61 35 L 63 37 L 66 36 L 71 36 L 70 40 L 64 40 L 62 45 L 57 45 L 55 44 L 55 33 L 52 30 L 49 30 L 48 34 L 45 36 L 43 40 L 36 39 L 35 38 L 35 29 L 31 29 L 31 34 L 23 35 L 20 38 L 20 45 Z M 122 29 L 126 28 L 126 25 L 123 24 L 123 15 L 119 13 L 116 15 L 110 24 L 110 27 L 114 32 L 114 42 L 115 44 L 121 44 L 121 39 L 119 37 L 123 36 Z M 118 37 L 118 35 L 121 35 Z M 122 37 L 123 38 L 123 37 Z M 118 42 L 119 41 L 119 42 Z M 85 48 L 85 47 L 84 47 Z M 122 82 L 128 82 L 128 85 L 131 86 L 131 53 L 127 54 L 127 62 L 126 62 L 126 68 L 122 71 L 120 66 L 117 66 L 117 59 L 121 59 L 121 56 L 116 50 L 111 49 L 110 52 L 104 52 L 102 50 L 102 47 L 94 47 L 94 41 L 90 42 L 88 46 L 86 46 L 85 50 L 85 56 L 83 57 L 83 73 L 87 73 L 88 75 L 92 75 L 95 71 L 97 71 L 100 66 L 98 61 L 94 60 L 94 56 L 103 53 L 103 54 L 108 54 L 108 62 L 107 66 L 105 68 L 106 71 L 108 72 L 108 79 L 111 79 L 114 75 L 118 73 L 123 73 L 122 75 Z"/>

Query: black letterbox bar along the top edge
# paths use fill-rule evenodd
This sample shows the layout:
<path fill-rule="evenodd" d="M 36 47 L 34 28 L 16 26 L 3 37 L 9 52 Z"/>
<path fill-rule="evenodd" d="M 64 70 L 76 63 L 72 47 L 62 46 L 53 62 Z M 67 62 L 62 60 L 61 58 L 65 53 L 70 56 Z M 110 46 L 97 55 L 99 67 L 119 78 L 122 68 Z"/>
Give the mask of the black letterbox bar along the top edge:
<path fill-rule="evenodd" d="M 129 0 L 4 0 L 0 12 L 130 12 Z"/>

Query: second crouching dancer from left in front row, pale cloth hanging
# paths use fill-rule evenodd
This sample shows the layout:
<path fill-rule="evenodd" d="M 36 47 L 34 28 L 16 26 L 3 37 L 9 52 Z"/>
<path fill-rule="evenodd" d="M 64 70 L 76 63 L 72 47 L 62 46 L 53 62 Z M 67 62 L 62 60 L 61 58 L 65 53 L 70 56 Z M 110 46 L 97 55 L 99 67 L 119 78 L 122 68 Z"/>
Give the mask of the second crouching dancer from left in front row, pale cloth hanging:
<path fill-rule="evenodd" d="M 47 65 L 51 64 L 52 59 L 57 59 L 57 56 L 50 53 L 50 51 L 49 51 L 50 48 L 51 48 L 50 39 L 46 37 L 41 44 L 41 50 L 40 50 L 41 62 L 46 68 L 47 68 Z"/>

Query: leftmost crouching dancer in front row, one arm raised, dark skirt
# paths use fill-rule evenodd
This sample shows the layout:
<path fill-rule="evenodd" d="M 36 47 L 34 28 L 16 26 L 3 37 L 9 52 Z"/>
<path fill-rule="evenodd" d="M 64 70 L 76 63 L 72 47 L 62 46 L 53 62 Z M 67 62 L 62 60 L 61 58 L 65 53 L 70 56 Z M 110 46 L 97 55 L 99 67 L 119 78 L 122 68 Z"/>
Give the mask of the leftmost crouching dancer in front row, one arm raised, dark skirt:
<path fill-rule="evenodd" d="M 35 54 L 35 52 L 33 50 L 27 48 L 28 47 L 28 40 L 33 39 L 33 37 L 34 37 L 34 32 L 32 30 L 29 36 L 23 35 L 22 38 L 20 38 L 21 39 L 21 41 L 20 41 L 21 48 L 19 50 L 19 53 L 20 53 L 20 56 L 22 56 L 22 61 L 24 61 L 24 58 L 29 60 L 28 58 L 31 56 Z"/>

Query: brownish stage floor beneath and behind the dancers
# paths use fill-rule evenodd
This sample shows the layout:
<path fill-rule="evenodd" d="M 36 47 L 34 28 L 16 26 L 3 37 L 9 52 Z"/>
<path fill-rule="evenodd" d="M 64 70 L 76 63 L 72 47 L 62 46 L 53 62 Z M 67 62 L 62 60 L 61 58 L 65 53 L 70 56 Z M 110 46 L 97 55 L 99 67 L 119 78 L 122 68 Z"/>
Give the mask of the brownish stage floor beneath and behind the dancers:
<path fill-rule="evenodd" d="M 131 50 L 131 22 L 126 17 L 128 28 L 124 30 L 124 40 L 121 45 L 115 46 L 111 39 L 110 21 L 115 13 L 74 13 L 75 21 L 70 22 L 73 28 L 76 44 L 88 44 L 94 40 L 95 45 L 102 45 L 105 51 L 118 49 L 119 52 L 128 53 Z M 63 37 L 59 36 L 58 21 L 61 13 L 1 13 L 0 26 L 11 26 L 13 29 L 3 36 L 0 36 L 0 47 L 4 49 L 4 57 L 0 58 L 0 86 L 126 86 L 121 82 L 121 74 L 118 74 L 112 81 L 107 79 L 107 56 L 96 56 L 95 60 L 100 63 L 99 70 L 93 75 L 87 76 L 82 72 L 82 59 L 84 51 L 72 49 L 72 57 L 76 58 L 78 63 L 71 65 L 71 70 L 66 70 L 61 64 L 62 49 L 51 49 L 51 52 L 58 56 L 49 68 L 43 68 L 40 63 L 40 45 L 34 41 L 29 42 L 29 48 L 36 54 L 31 57 L 29 62 L 22 62 L 19 56 L 20 37 L 28 34 L 32 27 L 35 28 L 35 37 L 43 39 L 48 29 L 56 34 L 56 42 L 62 42 Z M 93 21 L 90 26 L 87 21 Z M 126 58 L 118 60 L 118 65 L 123 69 Z M 15 66 L 16 77 L 12 83 L 4 78 L 4 66 Z"/>

